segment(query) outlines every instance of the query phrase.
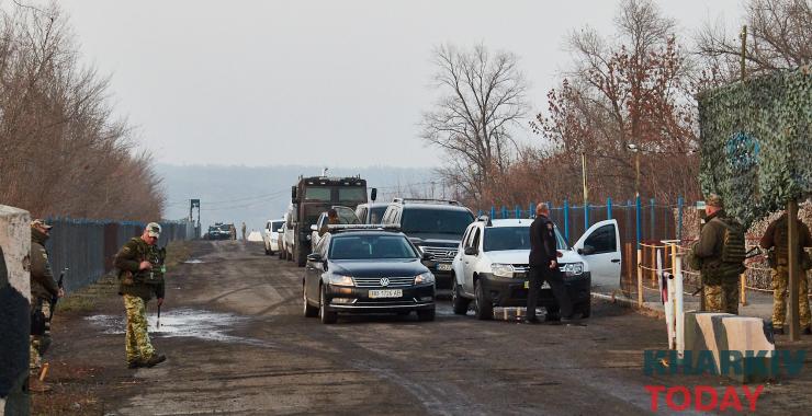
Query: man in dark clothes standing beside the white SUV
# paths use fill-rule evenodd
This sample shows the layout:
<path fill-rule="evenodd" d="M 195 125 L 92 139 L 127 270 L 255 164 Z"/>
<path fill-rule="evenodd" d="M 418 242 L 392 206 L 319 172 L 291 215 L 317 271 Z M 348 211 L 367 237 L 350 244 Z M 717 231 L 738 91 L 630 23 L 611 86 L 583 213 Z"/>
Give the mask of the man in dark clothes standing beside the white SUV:
<path fill-rule="evenodd" d="M 553 290 L 553 296 L 561 308 L 564 320 L 573 316 L 573 304 L 566 292 L 564 279 L 559 269 L 559 251 L 555 242 L 555 224 L 550 220 L 550 208 L 546 204 L 535 206 L 535 220 L 530 224 L 530 282 L 527 297 L 526 323 L 537 323 L 535 305 L 539 299 L 539 287 L 545 280 Z"/>

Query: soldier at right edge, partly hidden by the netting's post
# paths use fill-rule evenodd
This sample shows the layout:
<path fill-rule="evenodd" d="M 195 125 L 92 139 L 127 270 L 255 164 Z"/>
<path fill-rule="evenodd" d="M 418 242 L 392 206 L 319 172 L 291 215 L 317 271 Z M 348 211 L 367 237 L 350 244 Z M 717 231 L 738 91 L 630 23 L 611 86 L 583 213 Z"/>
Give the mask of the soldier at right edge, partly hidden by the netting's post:
<path fill-rule="evenodd" d="M 772 249 L 775 252 L 770 255 L 770 268 L 772 268 L 772 330 L 776 334 L 783 334 L 783 323 L 787 316 L 787 287 L 789 286 L 789 228 L 787 221 L 787 212 L 783 212 L 778 219 L 770 222 L 767 227 L 767 231 L 762 236 L 760 245 L 763 249 Z M 800 219 L 798 220 L 798 245 L 801 247 L 801 259 L 808 255 L 803 252 L 803 247 L 812 246 L 812 236 L 810 235 L 809 228 Z M 809 311 L 809 285 L 807 280 L 805 270 L 812 267 L 809 264 L 809 258 L 801 262 L 801 268 L 804 270 L 801 274 L 799 290 L 798 290 L 798 304 L 800 307 L 799 319 L 801 321 L 801 328 L 804 334 L 812 334 L 810 328 L 810 311 Z"/>

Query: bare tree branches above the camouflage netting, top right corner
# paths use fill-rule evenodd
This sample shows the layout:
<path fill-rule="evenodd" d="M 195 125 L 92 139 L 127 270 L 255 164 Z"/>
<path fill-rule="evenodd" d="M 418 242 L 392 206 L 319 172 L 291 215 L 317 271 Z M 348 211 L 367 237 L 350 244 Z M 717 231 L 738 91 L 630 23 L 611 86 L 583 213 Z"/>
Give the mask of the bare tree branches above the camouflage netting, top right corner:
<path fill-rule="evenodd" d="M 746 69 L 751 74 L 812 63 L 812 2 L 809 0 L 749 0 Z M 706 23 L 697 35 L 698 53 L 706 59 L 706 77 L 715 84 L 737 79 L 742 44 L 738 33 L 721 23 Z"/>

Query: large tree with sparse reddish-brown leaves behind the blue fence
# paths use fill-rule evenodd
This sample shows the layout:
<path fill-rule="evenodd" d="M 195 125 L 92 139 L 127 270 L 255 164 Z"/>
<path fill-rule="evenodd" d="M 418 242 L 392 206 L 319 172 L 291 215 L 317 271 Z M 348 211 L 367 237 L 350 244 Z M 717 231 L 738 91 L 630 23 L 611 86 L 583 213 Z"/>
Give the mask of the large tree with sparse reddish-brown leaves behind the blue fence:
<path fill-rule="evenodd" d="M 614 22 L 614 37 L 590 28 L 569 35 L 573 69 L 531 124 L 552 148 L 540 160 L 555 159 L 563 172 L 580 177 L 584 154 L 591 188 L 598 190 L 591 194 L 622 197 L 633 195 L 635 165 L 628 146 L 634 145 L 643 150 L 642 195 L 693 196 L 695 106 L 676 24 L 647 0 L 623 1 Z M 571 194 L 578 190 L 576 185 Z"/>

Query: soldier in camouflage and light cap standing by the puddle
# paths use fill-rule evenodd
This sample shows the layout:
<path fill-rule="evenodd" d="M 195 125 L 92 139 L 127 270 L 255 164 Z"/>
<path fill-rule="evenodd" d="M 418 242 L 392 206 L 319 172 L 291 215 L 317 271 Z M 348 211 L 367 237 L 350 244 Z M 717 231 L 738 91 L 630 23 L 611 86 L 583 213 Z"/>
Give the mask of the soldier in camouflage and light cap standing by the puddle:
<path fill-rule="evenodd" d="M 156 245 L 160 224 L 150 222 L 144 233 L 129 240 L 115 255 L 115 267 L 121 273 L 119 293 L 127 312 L 126 353 L 127 367 L 153 367 L 167 359 L 157 354 L 147 333 L 147 302 L 155 296 L 158 305 L 163 303 L 166 251 Z"/>

